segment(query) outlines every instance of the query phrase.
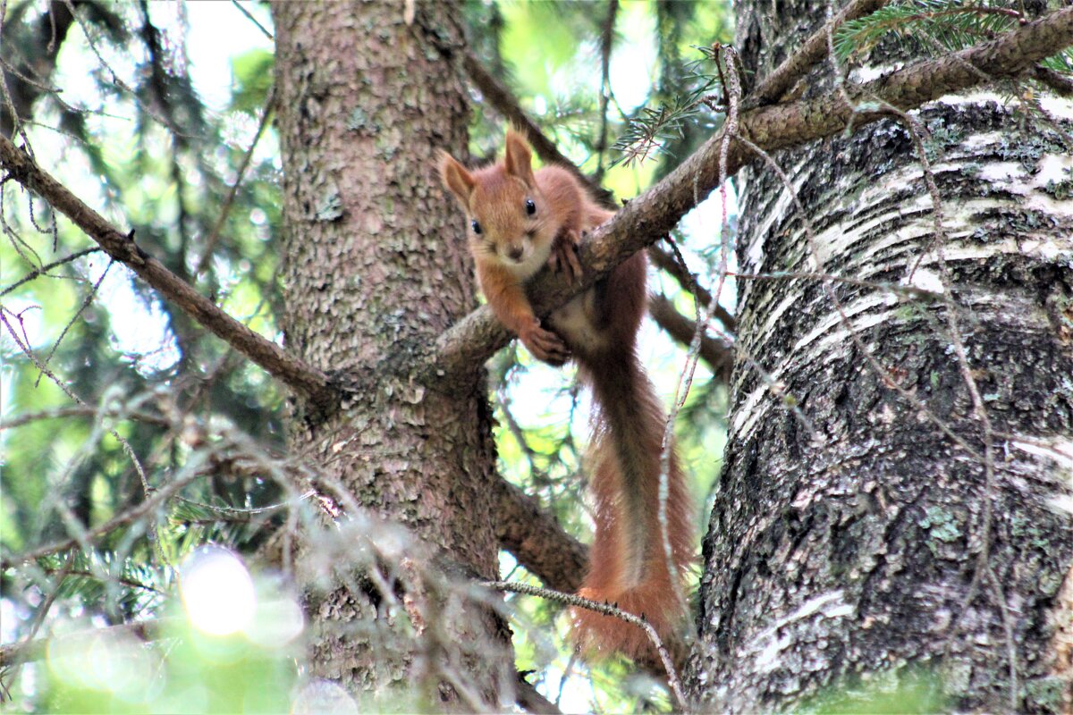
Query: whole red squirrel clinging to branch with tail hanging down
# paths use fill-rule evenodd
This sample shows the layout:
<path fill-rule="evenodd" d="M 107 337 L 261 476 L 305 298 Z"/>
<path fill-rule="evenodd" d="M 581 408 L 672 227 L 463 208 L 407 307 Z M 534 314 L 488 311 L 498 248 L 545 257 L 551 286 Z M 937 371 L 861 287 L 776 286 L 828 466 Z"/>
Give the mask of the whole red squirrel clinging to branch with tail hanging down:
<path fill-rule="evenodd" d="M 575 359 L 578 375 L 596 399 L 596 537 L 578 595 L 643 614 L 666 635 L 684 615 L 681 582 L 692 557 L 693 530 L 688 488 L 673 451 L 665 540 L 660 526 L 665 418 L 636 355 L 647 306 L 645 254 L 633 255 L 554 311 L 544 327 L 526 296 L 526 284 L 545 264 L 571 280 L 578 278 L 580 236 L 614 214 L 598 206 L 567 169 L 545 166 L 533 172 L 531 164 L 529 144 L 518 132 L 508 131 L 501 162 L 470 172 L 443 152 L 440 176 L 466 212 L 477 281 L 500 323 L 540 360 L 560 366 Z M 573 617 L 576 638 L 589 652 L 650 652 L 636 626 L 585 609 L 575 609 Z"/>

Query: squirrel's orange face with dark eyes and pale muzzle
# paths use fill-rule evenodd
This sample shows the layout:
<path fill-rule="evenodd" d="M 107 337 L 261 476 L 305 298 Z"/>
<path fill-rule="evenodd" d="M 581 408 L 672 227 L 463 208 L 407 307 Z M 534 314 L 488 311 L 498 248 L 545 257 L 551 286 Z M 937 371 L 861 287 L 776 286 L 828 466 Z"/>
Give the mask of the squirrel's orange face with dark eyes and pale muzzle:
<path fill-rule="evenodd" d="M 535 185 L 497 174 L 480 177 L 470 195 L 470 247 L 525 280 L 547 260 L 556 227 Z"/>

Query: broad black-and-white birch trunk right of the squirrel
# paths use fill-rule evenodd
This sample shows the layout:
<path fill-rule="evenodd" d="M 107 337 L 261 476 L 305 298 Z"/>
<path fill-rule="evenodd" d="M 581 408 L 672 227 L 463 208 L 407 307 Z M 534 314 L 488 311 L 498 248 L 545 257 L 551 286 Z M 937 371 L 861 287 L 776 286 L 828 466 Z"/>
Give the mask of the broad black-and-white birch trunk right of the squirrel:
<path fill-rule="evenodd" d="M 761 77 L 825 11 L 736 9 Z M 739 175 L 743 273 L 941 295 L 741 282 L 753 362 L 732 381 L 690 679 L 711 706 L 789 707 L 847 676 L 909 673 L 957 710 L 1073 706 L 1068 149 L 1016 102 L 915 116 L 940 212 L 896 119 L 775 155 L 805 215 L 768 166 Z"/>

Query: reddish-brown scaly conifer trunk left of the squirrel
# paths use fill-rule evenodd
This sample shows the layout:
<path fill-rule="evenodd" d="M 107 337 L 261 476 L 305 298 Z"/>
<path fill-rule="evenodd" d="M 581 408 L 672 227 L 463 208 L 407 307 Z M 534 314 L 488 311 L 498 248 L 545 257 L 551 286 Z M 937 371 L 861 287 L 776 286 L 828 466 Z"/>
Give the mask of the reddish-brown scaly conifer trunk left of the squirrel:
<path fill-rule="evenodd" d="M 418 3 L 412 23 L 405 10 L 274 6 L 285 343 L 344 390 L 338 411 L 296 405 L 292 420 L 292 449 L 322 475 L 322 503 L 350 511 L 300 556 L 317 586 L 311 669 L 351 694 L 401 685 L 425 699 L 396 689 L 395 707 L 501 709 L 500 681 L 514 677 L 505 628 L 458 585 L 498 568 L 483 372 L 447 386 L 414 367 L 474 306 L 433 168 L 438 148 L 466 149 L 465 87 L 432 43 L 460 31 L 453 4 Z"/>

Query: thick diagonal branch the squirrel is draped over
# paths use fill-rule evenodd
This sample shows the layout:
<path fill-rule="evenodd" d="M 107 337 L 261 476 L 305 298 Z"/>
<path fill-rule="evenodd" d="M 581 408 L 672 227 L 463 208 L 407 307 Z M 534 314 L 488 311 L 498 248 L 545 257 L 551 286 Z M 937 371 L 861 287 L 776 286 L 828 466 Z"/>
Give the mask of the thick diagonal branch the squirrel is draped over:
<path fill-rule="evenodd" d="M 798 146 L 891 116 L 887 105 L 914 109 L 944 94 L 975 87 L 982 77 L 1014 77 L 1039 60 L 1073 44 L 1073 6 L 1063 8 L 1000 38 L 951 56 L 914 63 L 865 85 L 844 85 L 823 96 L 743 113 L 741 134 L 766 151 Z M 855 106 L 846 102 L 849 96 Z M 754 157 L 730 137 L 729 176 Z M 720 132 L 659 183 L 631 200 L 582 245 L 584 278 L 575 285 L 544 271 L 529 291 L 539 314 L 564 304 L 616 265 L 655 243 L 718 184 Z M 435 369 L 461 374 L 510 340 L 491 310 L 483 307 L 438 341 Z"/>

